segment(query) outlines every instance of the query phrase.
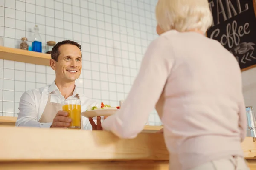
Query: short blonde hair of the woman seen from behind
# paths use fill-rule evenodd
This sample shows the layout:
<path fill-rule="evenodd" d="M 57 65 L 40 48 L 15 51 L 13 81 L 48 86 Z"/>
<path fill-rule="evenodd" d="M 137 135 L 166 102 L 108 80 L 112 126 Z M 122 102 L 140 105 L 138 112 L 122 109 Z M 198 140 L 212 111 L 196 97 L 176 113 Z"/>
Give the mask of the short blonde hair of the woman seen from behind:
<path fill-rule="evenodd" d="M 212 26 L 208 0 L 158 0 L 156 19 L 163 31 L 197 29 L 205 33 Z"/>

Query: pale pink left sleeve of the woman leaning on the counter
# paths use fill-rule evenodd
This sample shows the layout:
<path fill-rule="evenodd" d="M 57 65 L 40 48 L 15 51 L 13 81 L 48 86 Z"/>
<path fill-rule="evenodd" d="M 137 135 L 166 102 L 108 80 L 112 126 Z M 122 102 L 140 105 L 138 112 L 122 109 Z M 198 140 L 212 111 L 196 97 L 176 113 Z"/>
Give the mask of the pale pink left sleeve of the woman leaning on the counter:
<path fill-rule="evenodd" d="M 151 42 L 141 68 L 121 109 L 102 123 L 102 128 L 120 138 L 134 138 L 153 111 L 174 63 L 172 45 L 166 37 Z"/>

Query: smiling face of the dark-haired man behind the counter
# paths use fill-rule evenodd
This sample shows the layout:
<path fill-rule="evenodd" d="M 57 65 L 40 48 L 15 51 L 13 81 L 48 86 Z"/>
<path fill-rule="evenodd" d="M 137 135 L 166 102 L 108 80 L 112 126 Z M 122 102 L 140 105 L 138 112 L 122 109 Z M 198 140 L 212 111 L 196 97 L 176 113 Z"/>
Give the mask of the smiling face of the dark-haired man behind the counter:
<path fill-rule="evenodd" d="M 79 78 L 82 70 L 82 54 L 76 45 L 64 44 L 58 48 L 60 55 L 58 62 L 53 61 L 51 66 L 55 70 L 56 79 L 73 82 Z"/>

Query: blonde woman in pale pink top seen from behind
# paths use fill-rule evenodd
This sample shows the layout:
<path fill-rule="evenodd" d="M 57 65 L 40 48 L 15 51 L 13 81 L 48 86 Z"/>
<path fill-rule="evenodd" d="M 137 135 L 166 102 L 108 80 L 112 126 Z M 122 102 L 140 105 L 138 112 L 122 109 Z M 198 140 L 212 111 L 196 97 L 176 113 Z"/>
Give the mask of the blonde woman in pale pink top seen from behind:
<path fill-rule="evenodd" d="M 134 138 L 154 109 L 163 122 L 170 170 L 248 170 L 246 115 L 235 57 L 204 36 L 207 0 L 159 0 L 157 34 L 122 108 L 102 123 Z"/>

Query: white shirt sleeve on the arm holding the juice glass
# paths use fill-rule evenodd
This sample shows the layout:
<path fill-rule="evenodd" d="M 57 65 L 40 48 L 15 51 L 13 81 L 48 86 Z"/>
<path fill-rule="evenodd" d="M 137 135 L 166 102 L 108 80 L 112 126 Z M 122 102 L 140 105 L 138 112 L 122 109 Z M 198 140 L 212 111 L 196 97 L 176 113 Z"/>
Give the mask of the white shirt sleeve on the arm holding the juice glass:
<path fill-rule="evenodd" d="M 20 98 L 19 113 L 16 126 L 49 128 L 52 123 L 40 123 L 37 120 L 38 111 L 35 104 L 35 95 L 26 91 Z"/>

